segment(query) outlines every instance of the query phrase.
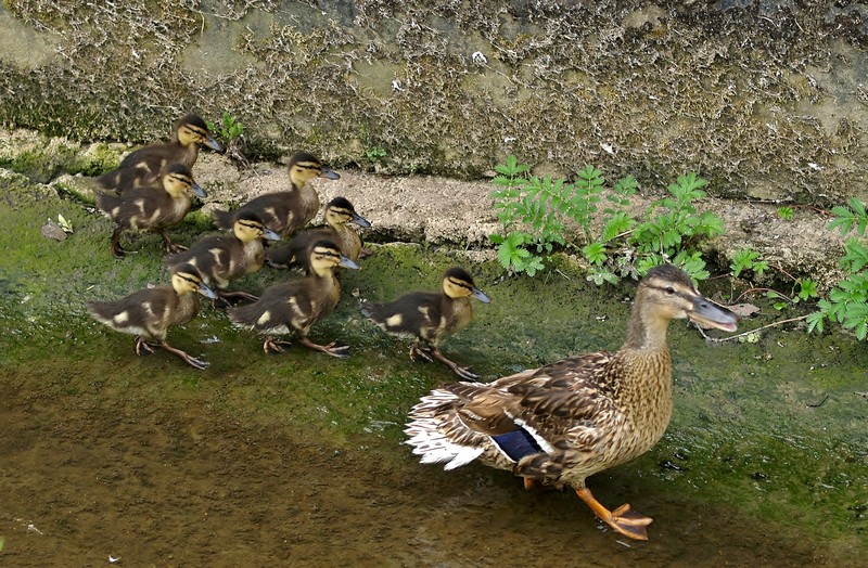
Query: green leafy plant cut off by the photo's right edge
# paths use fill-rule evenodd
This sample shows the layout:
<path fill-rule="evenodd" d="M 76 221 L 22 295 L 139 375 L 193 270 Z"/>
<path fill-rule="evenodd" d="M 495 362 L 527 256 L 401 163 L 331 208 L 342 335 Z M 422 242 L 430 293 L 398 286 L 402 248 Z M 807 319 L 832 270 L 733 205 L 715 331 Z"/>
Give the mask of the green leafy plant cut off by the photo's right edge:
<path fill-rule="evenodd" d="M 829 222 L 829 229 L 838 229 L 842 235 L 854 229 L 858 235 L 844 242 L 840 263 L 847 276 L 838 283 L 828 298 L 817 302 L 818 310 L 808 314 L 807 326 L 808 331 L 821 332 L 826 320 L 834 320 L 861 340 L 868 337 L 868 248 L 864 242 L 868 214 L 856 197 L 851 197 L 848 205 L 833 207 L 834 219 Z"/>

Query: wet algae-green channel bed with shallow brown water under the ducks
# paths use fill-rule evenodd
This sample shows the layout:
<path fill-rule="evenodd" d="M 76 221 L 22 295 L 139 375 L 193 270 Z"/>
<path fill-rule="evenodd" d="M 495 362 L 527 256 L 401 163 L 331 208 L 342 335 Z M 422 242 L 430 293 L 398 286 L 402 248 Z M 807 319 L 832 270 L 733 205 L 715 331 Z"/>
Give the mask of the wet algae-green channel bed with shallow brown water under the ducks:
<path fill-rule="evenodd" d="M 67 241 L 18 236 L 59 210 L 76 228 Z M 106 221 L 14 191 L 0 221 L 3 565 L 857 566 L 868 553 L 868 353 L 850 338 L 776 328 L 709 347 L 674 323 L 668 433 L 589 480 L 608 506 L 654 518 L 649 542 L 628 542 L 571 491 L 418 464 L 401 444 L 407 411 L 452 377 L 410 363 L 358 306 L 472 268 L 493 302 L 477 304 L 445 349 L 492 380 L 617 348 L 630 285 L 596 288 L 569 262 L 501 279 L 460 253 L 378 247 L 342 274 L 337 312 L 311 334 L 350 344 L 350 359 L 297 345 L 265 357 L 257 337 L 206 307 L 169 334 L 212 363 L 196 372 L 164 352 L 137 358 L 131 337 L 84 311 L 163 281 L 158 236 L 115 261 Z M 264 270 L 238 287 L 285 277 Z"/>

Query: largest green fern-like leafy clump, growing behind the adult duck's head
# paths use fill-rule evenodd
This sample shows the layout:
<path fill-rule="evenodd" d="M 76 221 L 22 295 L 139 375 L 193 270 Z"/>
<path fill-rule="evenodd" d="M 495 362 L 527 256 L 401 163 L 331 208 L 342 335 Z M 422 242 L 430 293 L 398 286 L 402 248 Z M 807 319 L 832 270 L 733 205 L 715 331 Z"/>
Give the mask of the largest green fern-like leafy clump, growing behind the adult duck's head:
<path fill-rule="evenodd" d="M 506 269 L 533 275 L 554 247 L 576 247 L 590 264 L 588 279 L 597 284 L 643 275 L 664 261 L 681 266 L 695 280 L 709 276 L 693 245 L 724 228 L 716 215 L 697 211 L 693 203 L 705 196 L 701 188 L 707 182 L 695 173 L 679 177 L 667 188 L 669 196 L 654 202 L 646 220 L 637 221 L 627 209 L 638 188 L 631 177 L 608 189 L 602 172 L 587 166 L 567 183 L 532 176 L 515 156 L 495 169 L 492 196 L 503 232 L 492 241 Z M 593 227 L 601 227 L 599 234 Z"/>

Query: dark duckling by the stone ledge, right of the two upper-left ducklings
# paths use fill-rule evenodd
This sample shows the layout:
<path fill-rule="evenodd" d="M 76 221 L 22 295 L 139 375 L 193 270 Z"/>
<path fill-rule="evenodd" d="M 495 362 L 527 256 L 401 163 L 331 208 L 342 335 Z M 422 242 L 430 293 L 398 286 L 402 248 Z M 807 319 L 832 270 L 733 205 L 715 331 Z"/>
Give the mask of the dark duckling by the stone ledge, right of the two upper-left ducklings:
<path fill-rule="evenodd" d="M 298 152 L 290 158 L 289 171 L 290 191 L 259 195 L 232 211 L 215 210 L 214 222 L 221 229 L 229 229 L 239 215 L 253 212 L 281 238 L 295 233 L 319 212 L 319 194 L 308 182 L 314 178 L 336 180 L 341 176 L 323 167 L 319 158 L 307 152 Z"/>

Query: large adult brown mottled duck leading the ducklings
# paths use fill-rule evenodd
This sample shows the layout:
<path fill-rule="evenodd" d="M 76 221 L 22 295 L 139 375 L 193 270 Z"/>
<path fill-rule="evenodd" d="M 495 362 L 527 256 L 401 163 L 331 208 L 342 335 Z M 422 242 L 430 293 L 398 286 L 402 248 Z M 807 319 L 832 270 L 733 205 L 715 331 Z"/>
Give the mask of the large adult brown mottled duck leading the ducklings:
<path fill-rule="evenodd" d="M 672 416 L 673 319 L 736 331 L 738 318 L 705 299 L 674 266 L 640 282 L 624 345 L 571 357 L 486 385 L 457 383 L 422 397 L 405 433 L 422 463 L 446 469 L 478 460 L 535 481 L 570 486 L 615 531 L 647 540 L 652 519 L 628 504 L 609 511 L 585 486 L 598 472 L 647 452 Z"/>

